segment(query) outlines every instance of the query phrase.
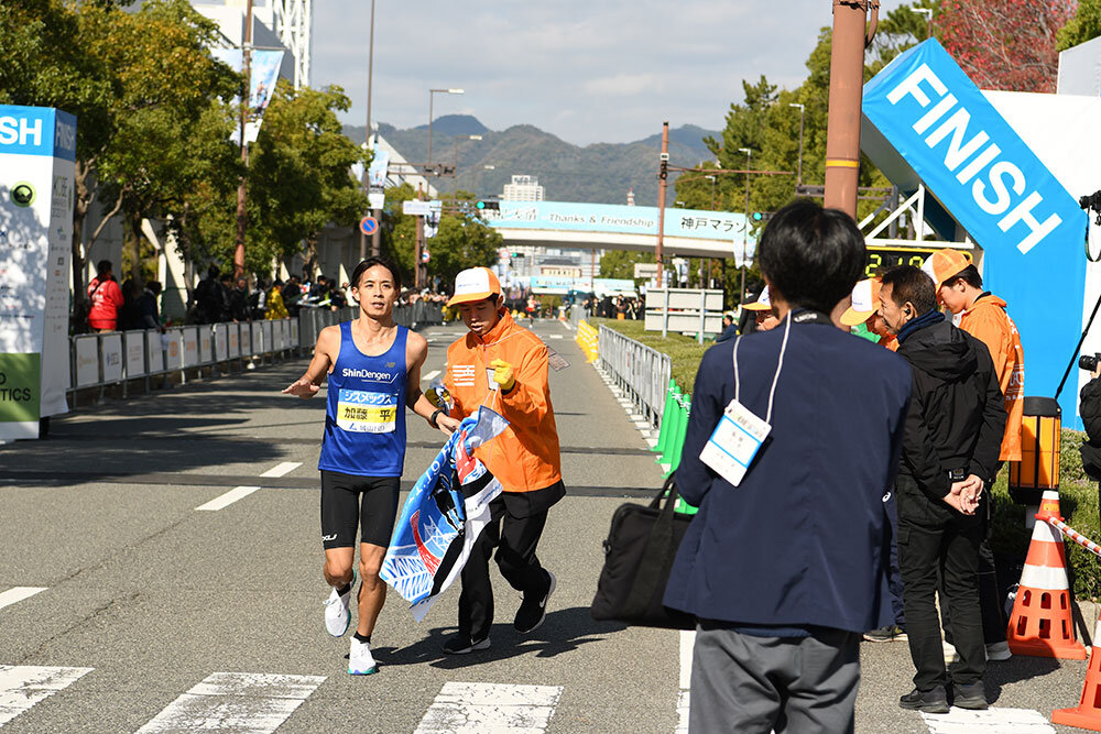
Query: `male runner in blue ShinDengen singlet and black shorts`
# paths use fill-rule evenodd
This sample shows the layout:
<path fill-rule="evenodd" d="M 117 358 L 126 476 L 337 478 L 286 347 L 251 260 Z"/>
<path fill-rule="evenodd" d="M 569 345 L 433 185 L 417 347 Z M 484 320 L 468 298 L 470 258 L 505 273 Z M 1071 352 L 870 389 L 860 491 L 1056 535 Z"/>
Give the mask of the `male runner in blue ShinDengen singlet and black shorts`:
<path fill-rule="evenodd" d="M 381 258 L 368 258 L 356 267 L 352 283 L 359 318 L 323 329 L 306 373 L 283 393 L 313 397 L 328 375 L 325 437 L 317 462 L 324 573 L 333 587 L 325 602 L 325 627 L 334 637 L 348 631 L 359 525 L 359 624 L 348 655 L 348 672 L 359 676 L 378 670 L 371 633 L 386 600 L 379 569 L 393 534 L 405 463 L 402 405 L 445 434 L 459 421 L 443 415 L 421 392 L 428 343 L 394 324 L 401 289 L 397 269 Z"/>

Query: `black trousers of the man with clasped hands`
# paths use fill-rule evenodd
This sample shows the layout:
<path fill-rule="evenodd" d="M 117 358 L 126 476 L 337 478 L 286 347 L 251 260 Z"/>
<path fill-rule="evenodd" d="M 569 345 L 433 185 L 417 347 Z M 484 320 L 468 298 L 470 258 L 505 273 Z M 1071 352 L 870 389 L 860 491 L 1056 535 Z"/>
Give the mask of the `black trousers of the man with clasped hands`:
<path fill-rule="evenodd" d="M 914 491 L 919 490 L 914 486 Z M 945 601 L 951 611 L 953 639 L 961 660 L 952 668 L 952 682 L 967 686 L 980 680 L 986 671 L 978 581 L 982 527 L 975 518 L 963 515 L 944 523 L 920 519 L 922 523 L 914 522 L 905 513 L 898 516 L 898 568 L 905 585 L 906 635 L 917 668 L 914 686 L 929 691 L 948 684 L 935 602 L 938 568 L 942 569 Z"/>

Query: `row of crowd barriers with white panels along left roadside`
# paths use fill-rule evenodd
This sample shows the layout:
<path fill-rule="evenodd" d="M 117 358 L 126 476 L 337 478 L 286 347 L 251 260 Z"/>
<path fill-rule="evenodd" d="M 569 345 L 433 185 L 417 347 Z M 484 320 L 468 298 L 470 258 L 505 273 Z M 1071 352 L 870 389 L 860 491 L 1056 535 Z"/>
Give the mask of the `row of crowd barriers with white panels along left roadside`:
<path fill-rule="evenodd" d="M 298 322 L 294 319 L 251 324 L 205 324 L 156 329 L 108 331 L 69 337 L 70 387 L 73 393 L 103 387 L 141 377 L 214 366 L 235 359 L 252 359 L 297 352 Z"/>

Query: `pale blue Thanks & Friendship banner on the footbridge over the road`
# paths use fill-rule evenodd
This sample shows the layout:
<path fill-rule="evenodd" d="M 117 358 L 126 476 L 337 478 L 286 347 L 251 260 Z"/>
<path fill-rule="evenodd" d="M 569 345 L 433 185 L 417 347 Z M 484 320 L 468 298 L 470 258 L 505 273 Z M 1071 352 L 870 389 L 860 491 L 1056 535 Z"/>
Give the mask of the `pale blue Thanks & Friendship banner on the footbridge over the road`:
<path fill-rule="evenodd" d="M 571 201 L 501 201 L 501 211 L 483 211 L 492 227 L 554 229 L 614 234 L 657 234 L 657 207 Z M 665 210 L 665 237 L 742 241 L 745 216 L 702 209 Z M 752 229 L 751 244 L 756 241 Z"/>

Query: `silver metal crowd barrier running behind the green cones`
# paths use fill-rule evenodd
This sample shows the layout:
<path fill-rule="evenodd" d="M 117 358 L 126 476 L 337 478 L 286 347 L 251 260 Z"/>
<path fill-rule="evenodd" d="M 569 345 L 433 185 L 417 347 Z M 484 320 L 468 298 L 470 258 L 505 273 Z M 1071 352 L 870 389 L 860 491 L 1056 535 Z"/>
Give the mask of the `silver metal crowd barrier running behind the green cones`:
<path fill-rule="evenodd" d="M 615 381 L 632 405 L 655 427 L 662 425 L 673 360 L 619 331 L 601 326 L 600 366 Z"/>

